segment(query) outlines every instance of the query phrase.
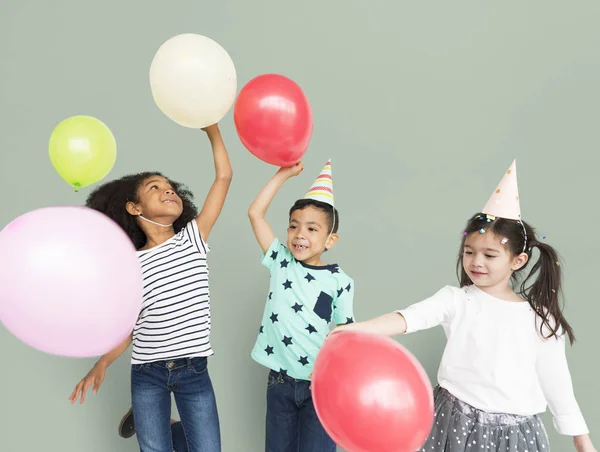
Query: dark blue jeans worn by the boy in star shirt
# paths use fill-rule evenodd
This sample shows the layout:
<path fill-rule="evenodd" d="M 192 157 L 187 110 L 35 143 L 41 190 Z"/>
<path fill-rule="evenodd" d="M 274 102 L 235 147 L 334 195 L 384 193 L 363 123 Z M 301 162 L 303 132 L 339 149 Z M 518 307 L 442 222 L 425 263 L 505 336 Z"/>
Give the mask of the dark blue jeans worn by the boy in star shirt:
<path fill-rule="evenodd" d="M 310 381 L 271 371 L 267 383 L 266 452 L 335 452 L 312 401 Z"/>

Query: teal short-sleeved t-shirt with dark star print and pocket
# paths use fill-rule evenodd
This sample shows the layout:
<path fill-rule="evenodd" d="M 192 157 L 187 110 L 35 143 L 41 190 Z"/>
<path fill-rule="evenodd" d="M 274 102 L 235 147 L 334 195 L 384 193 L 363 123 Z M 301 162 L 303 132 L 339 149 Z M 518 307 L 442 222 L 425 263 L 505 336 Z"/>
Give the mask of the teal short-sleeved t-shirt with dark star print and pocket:
<path fill-rule="evenodd" d="M 308 380 L 330 324 L 354 321 L 354 281 L 337 264 L 315 267 L 297 261 L 277 238 L 262 264 L 271 282 L 252 358 Z"/>

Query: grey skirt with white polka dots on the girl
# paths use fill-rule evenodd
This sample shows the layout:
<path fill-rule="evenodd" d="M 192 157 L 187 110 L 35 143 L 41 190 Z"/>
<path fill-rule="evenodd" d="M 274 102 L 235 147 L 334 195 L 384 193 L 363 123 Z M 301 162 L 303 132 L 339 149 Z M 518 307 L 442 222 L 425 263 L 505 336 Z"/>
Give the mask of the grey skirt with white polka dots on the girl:
<path fill-rule="evenodd" d="M 435 418 L 421 452 L 548 452 L 538 416 L 488 413 L 435 388 Z"/>

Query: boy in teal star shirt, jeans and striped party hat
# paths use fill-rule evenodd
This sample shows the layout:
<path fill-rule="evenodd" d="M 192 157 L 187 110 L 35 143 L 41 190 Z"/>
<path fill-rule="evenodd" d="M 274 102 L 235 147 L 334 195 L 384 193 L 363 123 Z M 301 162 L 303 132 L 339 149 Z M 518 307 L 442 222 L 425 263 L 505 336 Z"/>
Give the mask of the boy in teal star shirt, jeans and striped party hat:
<path fill-rule="evenodd" d="M 271 369 L 267 384 L 266 452 L 335 452 L 315 412 L 309 375 L 330 331 L 353 322 L 354 281 L 321 257 L 338 241 L 331 162 L 289 213 L 286 245 L 265 219 L 275 194 L 302 163 L 281 168 L 254 200 L 248 216 L 271 274 L 252 358 Z"/>

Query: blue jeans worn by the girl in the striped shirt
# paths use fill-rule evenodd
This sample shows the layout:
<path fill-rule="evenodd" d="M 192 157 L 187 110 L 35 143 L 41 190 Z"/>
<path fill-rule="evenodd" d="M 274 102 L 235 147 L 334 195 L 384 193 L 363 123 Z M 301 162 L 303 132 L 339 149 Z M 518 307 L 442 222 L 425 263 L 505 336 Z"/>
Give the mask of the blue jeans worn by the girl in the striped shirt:
<path fill-rule="evenodd" d="M 173 425 L 173 437 L 171 393 L 181 417 L 181 424 Z M 131 398 L 140 452 L 221 452 L 219 415 L 206 358 L 134 364 Z"/>

